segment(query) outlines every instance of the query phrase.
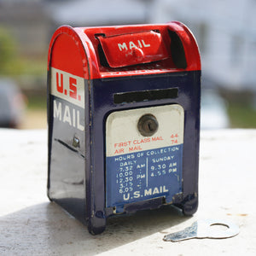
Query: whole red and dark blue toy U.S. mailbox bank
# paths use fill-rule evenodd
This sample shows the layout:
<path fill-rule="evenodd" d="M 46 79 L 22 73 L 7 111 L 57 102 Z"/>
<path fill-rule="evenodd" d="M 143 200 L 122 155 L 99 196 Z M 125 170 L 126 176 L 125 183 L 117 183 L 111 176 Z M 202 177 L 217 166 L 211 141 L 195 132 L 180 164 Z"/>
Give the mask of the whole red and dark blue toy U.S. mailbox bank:
<path fill-rule="evenodd" d="M 92 234 L 122 212 L 196 211 L 201 61 L 186 26 L 61 26 L 48 73 L 51 201 Z"/>

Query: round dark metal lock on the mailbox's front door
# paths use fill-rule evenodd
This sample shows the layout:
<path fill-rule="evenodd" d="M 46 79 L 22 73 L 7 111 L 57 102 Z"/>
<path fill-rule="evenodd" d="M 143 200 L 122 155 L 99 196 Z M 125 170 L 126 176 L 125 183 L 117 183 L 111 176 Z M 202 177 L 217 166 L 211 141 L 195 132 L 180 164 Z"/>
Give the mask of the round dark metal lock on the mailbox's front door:
<path fill-rule="evenodd" d="M 144 114 L 137 123 L 137 129 L 144 137 L 150 137 L 158 130 L 158 121 L 153 114 Z"/>

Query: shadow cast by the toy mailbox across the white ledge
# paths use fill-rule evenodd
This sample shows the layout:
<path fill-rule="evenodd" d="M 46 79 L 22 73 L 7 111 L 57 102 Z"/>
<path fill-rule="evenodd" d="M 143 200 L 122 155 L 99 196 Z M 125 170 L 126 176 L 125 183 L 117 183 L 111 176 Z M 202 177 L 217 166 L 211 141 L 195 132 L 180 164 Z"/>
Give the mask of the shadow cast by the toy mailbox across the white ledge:
<path fill-rule="evenodd" d="M 0 218 L 0 253 L 96 255 L 155 233 L 161 241 L 164 230 L 188 219 L 175 207 L 163 207 L 108 218 L 105 232 L 91 236 L 61 207 L 45 202 Z"/>

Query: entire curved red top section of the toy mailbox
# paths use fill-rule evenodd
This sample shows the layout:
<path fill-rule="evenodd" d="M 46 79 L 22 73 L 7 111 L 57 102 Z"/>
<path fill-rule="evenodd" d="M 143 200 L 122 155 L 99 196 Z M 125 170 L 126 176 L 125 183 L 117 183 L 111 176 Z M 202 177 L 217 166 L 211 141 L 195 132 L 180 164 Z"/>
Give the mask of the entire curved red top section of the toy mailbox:
<path fill-rule="evenodd" d="M 198 46 L 177 21 L 156 25 L 59 27 L 49 44 L 48 69 L 84 79 L 201 70 Z"/>

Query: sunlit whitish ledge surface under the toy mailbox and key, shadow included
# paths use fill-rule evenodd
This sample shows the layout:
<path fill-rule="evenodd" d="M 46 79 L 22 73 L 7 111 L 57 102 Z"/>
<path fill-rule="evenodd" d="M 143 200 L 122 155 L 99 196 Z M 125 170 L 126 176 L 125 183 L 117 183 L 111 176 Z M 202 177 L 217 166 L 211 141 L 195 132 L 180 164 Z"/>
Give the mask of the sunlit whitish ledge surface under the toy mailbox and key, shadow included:
<path fill-rule="evenodd" d="M 200 207 L 109 218 L 106 231 L 86 227 L 46 196 L 47 132 L 0 129 L 1 255 L 256 255 L 256 130 L 201 132 Z M 240 227 L 229 239 L 163 241 L 197 219 Z"/>

